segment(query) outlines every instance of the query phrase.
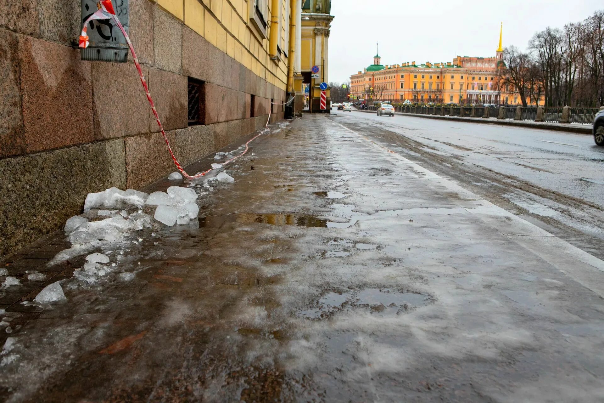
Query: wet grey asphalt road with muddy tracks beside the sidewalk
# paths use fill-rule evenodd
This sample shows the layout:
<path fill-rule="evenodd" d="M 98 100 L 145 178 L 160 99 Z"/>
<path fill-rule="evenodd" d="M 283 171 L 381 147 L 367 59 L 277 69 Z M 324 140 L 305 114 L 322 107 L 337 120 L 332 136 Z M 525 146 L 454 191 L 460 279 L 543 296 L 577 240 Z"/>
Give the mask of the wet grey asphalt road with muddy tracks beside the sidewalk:
<path fill-rule="evenodd" d="M 604 147 L 590 135 L 366 112 L 332 118 L 602 259 Z"/>

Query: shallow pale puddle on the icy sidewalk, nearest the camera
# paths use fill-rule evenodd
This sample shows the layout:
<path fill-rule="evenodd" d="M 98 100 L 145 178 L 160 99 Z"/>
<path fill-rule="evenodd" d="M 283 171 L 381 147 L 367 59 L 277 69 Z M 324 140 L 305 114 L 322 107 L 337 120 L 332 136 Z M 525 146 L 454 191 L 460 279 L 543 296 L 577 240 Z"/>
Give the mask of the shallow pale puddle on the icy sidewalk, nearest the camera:
<path fill-rule="evenodd" d="M 369 309 L 372 315 L 396 316 L 408 309 L 426 306 L 429 295 L 397 291 L 391 288 L 364 288 L 358 291 L 328 292 L 309 309 L 297 312 L 299 317 L 318 320 L 330 317 L 342 309 Z"/>

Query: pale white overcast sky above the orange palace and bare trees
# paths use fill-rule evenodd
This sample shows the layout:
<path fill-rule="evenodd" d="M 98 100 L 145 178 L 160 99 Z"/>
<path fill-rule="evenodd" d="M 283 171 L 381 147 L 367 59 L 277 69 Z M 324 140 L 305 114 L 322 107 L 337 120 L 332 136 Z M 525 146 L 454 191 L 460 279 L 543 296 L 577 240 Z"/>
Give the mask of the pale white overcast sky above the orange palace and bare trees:
<path fill-rule="evenodd" d="M 536 31 L 563 27 L 604 8 L 602 0 L 408 1 L 332 0 L 329 81 L 373 63 L 452 62 L 455 56 L 495 56 L 503 46 L 526 48 Z"/>

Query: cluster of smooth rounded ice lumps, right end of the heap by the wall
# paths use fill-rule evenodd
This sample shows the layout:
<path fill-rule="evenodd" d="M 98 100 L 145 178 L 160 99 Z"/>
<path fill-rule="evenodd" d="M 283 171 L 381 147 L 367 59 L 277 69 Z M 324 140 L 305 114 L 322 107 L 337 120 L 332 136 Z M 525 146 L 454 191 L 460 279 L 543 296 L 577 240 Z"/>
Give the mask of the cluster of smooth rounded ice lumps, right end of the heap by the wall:
<path fill-rule="evenodd" d="M 195 202 L 197 193 L 189 187 L 170 186 L 165 192 L 153 192 L 147 198 L 147 205 L 157 205 L 153 216 L 162 224 L 188 224 L 197 217 L 199 206 Z"/>

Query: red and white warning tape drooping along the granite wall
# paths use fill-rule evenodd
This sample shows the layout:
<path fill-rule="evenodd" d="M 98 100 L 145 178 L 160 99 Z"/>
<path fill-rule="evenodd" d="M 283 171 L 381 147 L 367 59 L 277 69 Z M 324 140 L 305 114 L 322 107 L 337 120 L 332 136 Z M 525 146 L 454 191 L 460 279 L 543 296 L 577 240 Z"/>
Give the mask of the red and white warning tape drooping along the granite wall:
<path fill-rule="evenodd" d="M 87 48 L 88 45 L 90 44 L 90 42 L 88 40 L 89 39 L 88 35 L 86 35 L 86 31 L 88 30 L 88 23 L 90 21 L 95 20 L 95 19 L 112 19 L 115 22 L 115 24 L 120 28 L 120 31 L 124 35 L 124 38 L 126 38 L 126 43 L 128 44 L 128 47 L 130 48 L 130 52 L 132 53 L 132 59 L 134 60 L 134 65 L 137 66 L 138 76 L 141 79 L 141 83 L 143 84 L 143 88 L 145 90 L 145 93 L 147 94 L 147 100 L 149 100 L 149 105 L 151 106 L 151 110 L 153 111 L 153 116 L 155 116 L 155 121 L 157 122 L 157 124 L 159 126 L 161 135 L 164 137 L 165 145 L 168 147 L 168 151 L 170 152 L 170 156 L 172 156 L 172 161 L 174 161 L 176 168 L 182 173 L 182 176 L 184 176 L 187 179 L 201 178 L 202 176 L 206 175 L 211 170 L 216 169 L 216 168 L 210 168 L 205 172 L 199 172 L 199 173 L 196 173 L 195 175 L 191 176 L 191 175 L 188 175 L 188 173 L 185 172 L 185 170 L 182 168 L 181 164 L 176 159 L 174 152 L 172 151 L 172 147 L 170 147 L 170 141 L 168 140 L 168 137 L 165 134 L 164 126 L 161 124 L 161 120 L 159 120 L 159 115 L 157 114 L 157 111 L 155 109 L 155 104 L 153 103 L 153 98 L 151 98 L 151 94 L 149 92 L 149 86 L 147 86 L 147 82 L 145 80 L 145 77 L 143 76 L 143 70 L 141 69 L 140 63 L 138 63 L 137 53 L 134 51 L 132 42 L 130 42 L 130 37 L 126 33 L 126 30 L 124 30 L 123 25 L 121 25 L 120 19 L 118 19 L 117 15 L 115 15 L 115 10 L 114 10 L 113 4 L 111 3 L 111 0 L 101 0 L 100 7 L 101 8 L 98 11 L 96 11 L 91 16 L 89 16 L 89 18 L 86 19 L 86 21 L 84 22 L 84 27 L 82 28 L 82 33 L 80 33 L 79 47 Z M 292 97 L 288 102 L 284 102 L 284 103 L 271 102 L 271 105 L 286 105 L 286 104 L 292 102 L 293 99 L 294 98 Z M 263 131 L 261 131 L 259 134 L 255 135 L 248 141 L 246 141 L 245 150 L 243 150 L 242 153 L 240 153 L 237 156 L 234 156 L 233 158 L 231 158 L 228 161 L 225 161 L 224 163 L 221 164 L 221 166 L 225 166 L 226 164 L 229 164 L 229 163 L 233 162 L 234 160 L 237 160 L 237 158 L 239 158 L 240 156 L 244 155 L 249 150 L 249 143 L 251 143 L 256 138 L 258 138 L 261 135 L 268 132 L 268 123 L 271 120 L 271 114 L 272 114 L 272 107 L 271 107 L 271 111 L 269 111 L 268 119 L 266 120 L 265 129 L 263 129 Z"/>

